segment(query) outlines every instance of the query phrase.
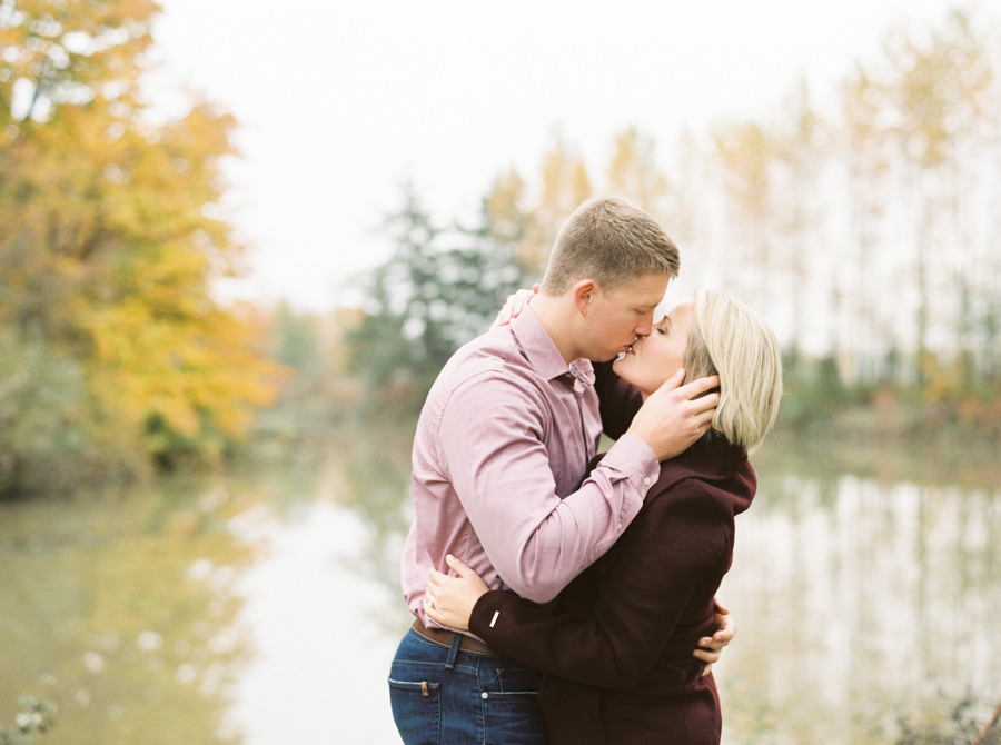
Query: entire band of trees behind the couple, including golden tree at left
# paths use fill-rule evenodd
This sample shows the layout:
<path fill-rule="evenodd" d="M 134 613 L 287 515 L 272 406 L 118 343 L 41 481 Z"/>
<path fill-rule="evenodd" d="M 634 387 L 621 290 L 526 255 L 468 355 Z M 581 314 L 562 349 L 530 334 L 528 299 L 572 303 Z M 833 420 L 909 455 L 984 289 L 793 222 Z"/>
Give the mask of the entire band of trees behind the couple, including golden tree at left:
<path fill-rule="evenodd" d="M 595 193 L 662 222 L 682 289 L 773 322 L 799 396 L 787 416 L 890 396 L 1001 428 L 993 20 L 895 30 L 836 105 L 800 85 L 767 120 L 683 132 L 666 161 L 630 127 L 601 173 L 555 137 L 537 173 L 499 175 L 462 219 L 407 187 L 364 308 L 318 318 L 214 299 L 244 250 L 220 207 L 236 122 L 207 101 L 148 116 L 159 10 L 0 2 L 0 498 L 219 463 L 252 433 L 288 445 L 410 416 Z"/>

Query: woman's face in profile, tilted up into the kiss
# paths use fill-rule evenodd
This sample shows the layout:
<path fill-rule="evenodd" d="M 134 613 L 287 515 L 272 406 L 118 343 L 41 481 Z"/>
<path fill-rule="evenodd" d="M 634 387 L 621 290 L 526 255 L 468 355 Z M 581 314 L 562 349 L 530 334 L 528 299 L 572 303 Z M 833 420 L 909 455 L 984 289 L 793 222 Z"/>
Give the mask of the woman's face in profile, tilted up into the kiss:
<path fill-rule="evenodd" d="M 663 320 L 654 324 L 650 336 L 634 341 L 625 357 L 615 362 L 618 377 L 636 386 L 644 398 L 677 372 L 684 362 L 692 308 L 691 302 L 675 306 Z"/>

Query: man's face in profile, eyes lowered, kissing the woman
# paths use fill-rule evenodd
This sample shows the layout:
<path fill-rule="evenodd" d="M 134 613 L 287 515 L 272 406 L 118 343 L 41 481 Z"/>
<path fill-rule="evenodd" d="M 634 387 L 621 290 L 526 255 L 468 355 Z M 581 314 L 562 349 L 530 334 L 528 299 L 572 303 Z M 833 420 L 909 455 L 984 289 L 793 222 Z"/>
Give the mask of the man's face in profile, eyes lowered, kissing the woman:
<path fill-rule="evenodd" d="M 597 290 L 588 310 L 591 344 L 588 357 L 607 361 L 628 351 L 637 336 L 648 336 L 654 310 L 667 290 L 667 275 L 643 275 L 620 287 Z"/>

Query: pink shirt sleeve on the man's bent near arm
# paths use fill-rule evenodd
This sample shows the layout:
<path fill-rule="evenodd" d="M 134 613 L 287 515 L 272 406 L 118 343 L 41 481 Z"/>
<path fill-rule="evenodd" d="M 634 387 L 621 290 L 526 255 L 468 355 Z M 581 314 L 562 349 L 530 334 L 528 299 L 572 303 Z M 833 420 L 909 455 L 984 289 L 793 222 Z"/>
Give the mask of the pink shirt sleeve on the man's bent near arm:
<path fill-rule="evenodd" d="M 439 460 L 500 579 L 546 603 L 630 525 L 660 465 L 645 443 L 624 437 L 561 499 L 542 395 L 496 384 L 477 379 L 453 393 L 438 428 Z"/>

